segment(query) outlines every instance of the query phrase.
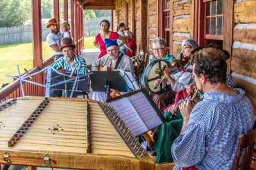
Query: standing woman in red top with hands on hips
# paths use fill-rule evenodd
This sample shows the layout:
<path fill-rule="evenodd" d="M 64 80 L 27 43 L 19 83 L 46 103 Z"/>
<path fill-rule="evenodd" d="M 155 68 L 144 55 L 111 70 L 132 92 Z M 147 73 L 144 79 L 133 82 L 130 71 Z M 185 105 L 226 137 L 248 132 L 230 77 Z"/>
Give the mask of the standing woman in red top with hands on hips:
<path fill-rule="evenodd" d="M 104 39 L 120 39 L 122 42 L 118 46 L 124 45 L 126 39 L 123 36 L 120 36 L 117 34 L 117 32 L 111 32 L 109 31 L 110 28 L 110 23 L 108 20 L 102 20 L 100 22 L 100 30 L 101 32 L 95 36 L 93 44 L 100 49 L 100 55 L 99 58 L 103 57 L 104 55 L 107 54 L 106 51 L 106 45 L 104 43 Z"/>

